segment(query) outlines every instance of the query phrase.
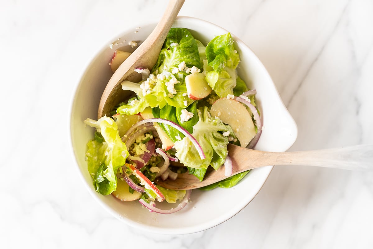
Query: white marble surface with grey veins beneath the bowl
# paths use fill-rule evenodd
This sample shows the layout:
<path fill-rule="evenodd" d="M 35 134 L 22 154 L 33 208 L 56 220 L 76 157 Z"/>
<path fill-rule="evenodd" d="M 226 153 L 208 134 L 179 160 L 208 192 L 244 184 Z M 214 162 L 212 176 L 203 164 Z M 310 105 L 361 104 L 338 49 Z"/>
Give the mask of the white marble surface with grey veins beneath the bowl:
<path fill-rule="evenodd" d="M 278 166 L 235 217 L 180 236 L 144 234 L 95 202 L 70 154 L 73 89 L 98 49 L 165 4 L 1 1 L 1 248 L 373 248 L 372 172 Z M 373 143 L 372 0 L 186 0 L 180 15 L 261 59 L 298 124 L 290 150 Z"/>

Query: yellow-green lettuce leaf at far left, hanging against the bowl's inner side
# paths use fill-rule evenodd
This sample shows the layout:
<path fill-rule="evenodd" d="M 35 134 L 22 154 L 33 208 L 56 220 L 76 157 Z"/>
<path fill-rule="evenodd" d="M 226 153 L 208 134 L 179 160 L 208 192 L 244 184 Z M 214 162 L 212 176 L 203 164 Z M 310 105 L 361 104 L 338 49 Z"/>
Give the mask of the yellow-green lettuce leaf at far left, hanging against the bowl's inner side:
<path fill-rule="evenodd" d="M 86 119 L 84 122 L 95 127 L 104 139 L 102 143 L 88 141 L 86 157 L 96 191 L 104 195 L 110 194 L 117 186 L 117 169 L 125 164 L 128 157 L 126 144 L 120 139 L 113 119 L 103 116 L 98 121 Z"/>

